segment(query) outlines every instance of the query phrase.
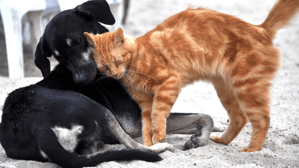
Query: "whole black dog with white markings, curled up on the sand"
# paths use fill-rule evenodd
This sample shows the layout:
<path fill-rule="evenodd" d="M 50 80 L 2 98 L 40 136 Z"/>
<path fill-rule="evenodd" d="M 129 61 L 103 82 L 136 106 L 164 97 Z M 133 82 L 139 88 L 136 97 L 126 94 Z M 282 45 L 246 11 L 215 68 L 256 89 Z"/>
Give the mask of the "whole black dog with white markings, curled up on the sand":
<path fill-rule="evenodd" d="M 147 147 L 131 139 L 141 136 L 141 110 L 117 81 L 98 73 L 83 34 L 107 32 L 98 22 L 115 22 L 104 0 L 62 11 L 48 23 L 35 54 L 45 79 L 13 91 L 4 103 L 0 142 L 8 157 L 88 167 L 112 160 L 159 161 L 156 154 L 171 149 L 167 143 Z M 50 73 L 46 57 L 51 55 L 60 63 Z M 184 149 L 206 145 L 212 129 L 207 114 L 167 118 L 167 133 L 196 133 Z M 103 143 L 119 142 L 129 149 L 87 155 Z"/>

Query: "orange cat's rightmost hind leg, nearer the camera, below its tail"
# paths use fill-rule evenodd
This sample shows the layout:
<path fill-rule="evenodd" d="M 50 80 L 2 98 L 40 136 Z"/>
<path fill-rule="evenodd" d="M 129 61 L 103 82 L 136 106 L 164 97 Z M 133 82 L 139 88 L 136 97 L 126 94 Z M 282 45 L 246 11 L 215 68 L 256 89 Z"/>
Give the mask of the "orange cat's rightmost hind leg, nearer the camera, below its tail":
<path fill-rule="evenodd" d="M 247 148 L 239 152 L 260 151 L 270 126 L 270 86 L 271 83 L 259 80 L 238 92 L 238 99 L 252 125 L 252 135 Z"/>

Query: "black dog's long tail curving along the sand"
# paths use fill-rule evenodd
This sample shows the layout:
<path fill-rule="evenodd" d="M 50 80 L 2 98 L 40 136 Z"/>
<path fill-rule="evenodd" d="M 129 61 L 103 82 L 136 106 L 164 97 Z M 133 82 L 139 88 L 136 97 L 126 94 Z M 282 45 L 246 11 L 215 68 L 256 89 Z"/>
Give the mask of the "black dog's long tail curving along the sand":
<path fill-rule="evenodd" d="M 161 161 L 156 154 L 137 149 L 119 149 L 106 152 L 98 152 L 92 155 L 78 155 L 66 151 L 51 130 L 40 130 L 37 135 L 40 150 L 44 157 L 48 157 L 54 163 L 64 168 L 94 167 L 106 161 L 143 160 L 148 162 Z"/>

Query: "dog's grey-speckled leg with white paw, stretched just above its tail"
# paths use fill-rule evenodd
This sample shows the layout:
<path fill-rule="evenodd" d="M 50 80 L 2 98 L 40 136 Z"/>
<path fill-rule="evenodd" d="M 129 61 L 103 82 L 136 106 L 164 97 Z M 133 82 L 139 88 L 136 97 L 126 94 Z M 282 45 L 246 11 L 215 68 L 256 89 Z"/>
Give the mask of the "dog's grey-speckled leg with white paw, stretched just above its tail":
<path fill-rule="evenodd" d="M 115 139 L 120 141 L 120 143 L 122 143 L 127 148 L 140 149 L 140 150 L 143 150 L 143 151 L 146 151 L 146 152 L 152 152 L 152 153 L 155 153 L 155 154 L 163 152 L 165 150 L 173 151 L 173 146 L 168 144 L 168 143 L 158 143 L 158 144 L 155 144 L 151 147 L 148 147 L 148 146 L 142 145 L 141 143 L 135 142 L 121 128 L 120 124 L 118 123 L 118 121 L 116 120 L 114 115 L 112 115 L 112 113 L 110 111 L 106 112 L 106 117 L 107 117 L 107 123 L 108 123 L 108 125 L 107 125 L 108 128 L 106 130 L 106 134 L 108 136 L 114 137 Z"/>

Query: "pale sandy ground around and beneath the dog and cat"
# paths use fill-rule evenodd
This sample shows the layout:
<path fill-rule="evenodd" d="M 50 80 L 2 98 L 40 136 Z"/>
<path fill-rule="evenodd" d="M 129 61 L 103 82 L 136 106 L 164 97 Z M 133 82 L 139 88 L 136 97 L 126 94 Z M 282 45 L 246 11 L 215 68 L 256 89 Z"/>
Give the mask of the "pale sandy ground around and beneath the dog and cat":
<path fill-rule="evenodd" d="M 208 7 L 222 13 L 237 15 L 239 18 L 260 24 L 266 19 L 274 0 L 131 0 L 126 33 L 138 37 L 154 28 L 168 16 L 178 13 L 189 4 Z M 230 144 L 222 145 L 209 141 L 204 147 L 182 151 L 191 135 L 170 134 L 165 142 L 172 144 L 175 152 L 159 154 L 163 161 L 112 161 L 97 167 L 299 167 L 299 18 L 292 26 L 280 30 L 274 44 L 280 48 L 282 66 L 272 81 L 271 124 L 264 144 L 259 152 L 237 152 L 248 145 L 251 138 L 251 124 L 248 123 Z M 3 29 L 3 28 L 2 28 Z M 1 31 L 1 28 L 0 28 Z M 3 30 L 0 39 L 3 48 Z M 0 36 L 0 37 L 1 37 Z M 1 41 L 2 40 L 2 41 Z M 3 56 L 4 55 L 4 56 Z M 32 56 L 25 58 L 25 79 L 10 80 L 5 64 L 5 51 L 0 53 L 0 109 L 8 93 L 16 88 L 41 80 L 39 71 L 34 70 Z M 7 59 L 6 59 L 7 60 Z M 216 124 L 227 124 L 228 116 L 219 102 L 213 86 L 196 83 L 181 92 L 172 112 L 194 112 L 210 114 Z M 212 133 L 221 135 L 221 133 Z M 140 142 L 140 138 L 136 141 Z M 106 145 L 105 149 L 122 148 L 123 145 Z M 58 167 L 53 163 L 23 161 L 7 158 L 0 147 L 0 167 Z"/>

